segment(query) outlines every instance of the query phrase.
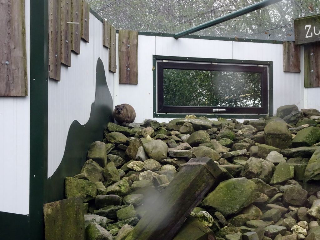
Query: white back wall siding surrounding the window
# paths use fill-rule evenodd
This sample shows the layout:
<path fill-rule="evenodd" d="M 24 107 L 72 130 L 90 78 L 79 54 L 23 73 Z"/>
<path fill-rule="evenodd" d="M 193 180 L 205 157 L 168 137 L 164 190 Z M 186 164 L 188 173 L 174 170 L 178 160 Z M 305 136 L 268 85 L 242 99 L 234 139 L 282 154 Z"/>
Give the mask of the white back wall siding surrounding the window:
<path fill-rule="evenodd" d="M 136 109 L 135 122 L 156 119 L 168 122 L 172 118 L 153 118 L 152 55 L 260 60 L 273 62 L 273 108 L 296 104 L 303 108 L 300 82 L 303 74 L 283 71 L 282 44 L 218 41 L 193 38 L 179 38 L 139 35 L 138 84 L 119 84 L 116 104 L 129 103 Z M 303 88 L 303 86 L 302 86 Z M 311 94 L 311 90 L 308 90 Z M 317 92 L 315 90 L 314 92 Z M 149 94 L 150 93 L 150 94 Z M 116 92 L 115 92 L 116 94 Z M 318 102 L 318 101 L 317 101 Z M 243 121 L 243 119 L 241 119 Z"/>

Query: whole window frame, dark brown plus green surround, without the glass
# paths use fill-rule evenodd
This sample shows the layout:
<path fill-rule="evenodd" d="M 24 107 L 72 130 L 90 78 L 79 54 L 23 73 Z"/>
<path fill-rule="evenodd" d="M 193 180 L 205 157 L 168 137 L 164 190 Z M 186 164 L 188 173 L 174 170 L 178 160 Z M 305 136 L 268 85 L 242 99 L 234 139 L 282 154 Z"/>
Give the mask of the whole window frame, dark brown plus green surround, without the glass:
<path fill-rule="evenodd" d="M 156 68 L 156 71 L 154 71 L 154 96 L 156 96 L 156 99 L 154 98 L 155 117 L 203 114 L 208 117 L 259 118 L 263 115 L 272 115 L 272 62 L 168 56 L 154 56 L 153 59 L 154 67 Z M 165 106 L 163 96 L 163 69 L 259 72 L 262 78 L 261 107 Z M 217 113 L 213 112 L 213 109 L 226 109 L 226 111 Z"/>

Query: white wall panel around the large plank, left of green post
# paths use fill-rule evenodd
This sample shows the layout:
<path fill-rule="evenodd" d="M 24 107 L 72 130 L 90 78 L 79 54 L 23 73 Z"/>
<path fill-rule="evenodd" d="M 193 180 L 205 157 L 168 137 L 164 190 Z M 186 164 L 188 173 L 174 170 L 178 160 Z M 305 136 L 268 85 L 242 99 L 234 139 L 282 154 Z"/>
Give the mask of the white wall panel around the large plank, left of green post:
<path fill-rule="evenodd" d="M 25 0 L 28 96 L 0 97 L 0 212 L 29 214 L 30 0 Z"/>

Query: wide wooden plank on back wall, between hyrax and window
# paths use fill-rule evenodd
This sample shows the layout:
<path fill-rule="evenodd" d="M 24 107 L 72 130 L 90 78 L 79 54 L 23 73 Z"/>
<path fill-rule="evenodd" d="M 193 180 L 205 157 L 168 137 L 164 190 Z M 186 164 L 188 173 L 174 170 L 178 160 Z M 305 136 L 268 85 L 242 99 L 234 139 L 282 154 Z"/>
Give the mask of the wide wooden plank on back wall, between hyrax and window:
<path fill-rule="evenodd" d="M 138 84 L 138 32 L 119 30 L 119 83 Z"/>

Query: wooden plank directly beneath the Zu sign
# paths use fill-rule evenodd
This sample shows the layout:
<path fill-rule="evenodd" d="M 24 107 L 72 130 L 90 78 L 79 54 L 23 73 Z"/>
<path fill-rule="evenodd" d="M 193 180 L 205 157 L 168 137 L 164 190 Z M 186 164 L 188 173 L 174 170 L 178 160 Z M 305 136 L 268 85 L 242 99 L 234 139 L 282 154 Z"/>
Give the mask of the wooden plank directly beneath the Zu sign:
<path fill-rule="evenodd" d="M 320 42 L 304 46 L 304 87 L 320 87 Z"/>

